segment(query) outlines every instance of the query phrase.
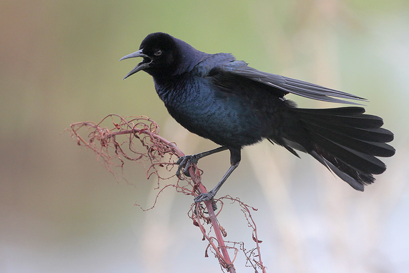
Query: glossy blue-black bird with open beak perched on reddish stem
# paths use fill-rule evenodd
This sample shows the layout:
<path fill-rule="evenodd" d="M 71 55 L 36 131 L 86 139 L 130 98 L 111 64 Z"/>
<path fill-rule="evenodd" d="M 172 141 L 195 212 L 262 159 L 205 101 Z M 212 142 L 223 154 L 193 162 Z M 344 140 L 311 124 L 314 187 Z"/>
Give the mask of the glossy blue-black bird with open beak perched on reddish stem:
<path fill-rule="evenodd" d="M 389 157 L 395 149 L 386 144 L 394 135 L 381 128 L 382 118 L 364 114 L 362 107 L 297 108 L 286 100 L 291 93 L 336 103 L 342 99 L 366 101 L 313 83 L 258 71 L 232 54 L 208 54 L 166 33 L 149 34 L 139 51 L 120 60 L 142 57 L 124 79 L 138 71 L 153 77 L 157 95 L 170 115 L 189 131 L 221 147 L 180 157 L 177 175 L 207 155 L 230 151 L 230 168 L 214 189 L 195 202 L 212 199 L 237 168 L 241 149 L 267 139 L 292 154 L 312 155 L 355 190 L 373 183 L 373 174 L 386 166 L 375 156 Z"/>

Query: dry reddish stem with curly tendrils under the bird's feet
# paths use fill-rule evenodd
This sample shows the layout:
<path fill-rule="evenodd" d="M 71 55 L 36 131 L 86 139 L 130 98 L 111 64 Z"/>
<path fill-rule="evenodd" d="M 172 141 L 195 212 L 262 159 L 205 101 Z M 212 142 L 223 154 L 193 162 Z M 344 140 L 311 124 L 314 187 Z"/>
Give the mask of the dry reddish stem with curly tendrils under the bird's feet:
<path fill-rule="evenodd" d="M 102 125 L 107 122 L 107 120 L 111 121 L 109 123 L 111 126 L 110 128 L 103 127 Z M 147 178 L 150 178 L 151 176 L 157 177 L 156 189 L 158 190 L 153 206 L 149 209 L 152 209 L 155 206 L 160 193 L 168 187 L 173 187 L 177 192 L 192 196 L 197 196 L 199 193 L 206 192 L 205 186 L 201 184 L 201 170 L 195 165 L 192 165 L 189 169 L 191 177 L 182 174 L 181 179 L 174 179 L 177 180 L 175 184 L 168 183 L 165 186 L 161 186 L 161 180 L 170 179 L 175 177 L 175 175 L 161 177 L 158 173 L 158 169 L 166 168 L 167 171 L 171 171 L 175 159 L 184 156 L 185 154 L 179 150 L 174 143 L 162 138 L 158 134 L 158 125 L 148 117 L 140 116 L 124 118 L 112 114 L 106 116 L 99 123 L 78 122 L 71 124 L 70 127 L 72 138 L 77 141 L 78 145 L 93 150 L 97 154 L 98 161 L 101 162 L 117 180 L 118 177 L 116 176 L 113 167 L 118 167 L 122 171 L 125 160 L 135 162 L 142 162 L 146 159 L 149 160 L 150 167 L 147 170 Z M 80 131 L 82 133 L 83 130 L 88 132 L 85 138 L 80 134 Z M 126 140 L 120 141 L 120 136 L 126 137 Z M 135 148 L 138 143 L 137 140 L 145 151 L 141 152 L 139 149 Z M 248 226 L 253 229 L 252 239 L 256 243 L 256 247 L 247 251 L 244 248 L 243 242 L 224 241 L 223 237 L 227 236 L 226 231 L 218 224 L 217 216 L 212 208 L 211 201 L 206 201 L 207 212 L 205 212 L 205 208 L 200 206 L 200 204 L 197 206 L 192 204 L 188 213 L 189 217 L 193 220 L 193 224 L 200 228 L 203 240 L 206 239 L 208 241 L 205 256 L 208 257 L 208 253 L 211 251 L 218 259 L 222 268 L 227 269 L 229 272 L 236 272 L 233 263 L 238 252 L 242 251 L 246 257 L 246 266 L 253 267 L 255 272 L 258 272 L 258 269 L 261 269 L 262 272 L 266 272 L 266 268 L 261 261 L 259 245 L 261 241 L 257 237 L 256 224 L 250 213 L 252 210 L 256 209 L 246 205 L 240 199 L 231 196 L 224 196 L 216 201 L 219 203 L 220 208 L 217 216 L 223 209 L 223 201 L 239 204 L 241 211 L 244 213 L 247 220 Z M 139 204 L 136 205 L 139 206 Z M 205 225 L 208 226 L 208 231 L 206 231 Z M 210 235 L 212 227 L 216 237 Z M 228 249 L 233 250 L 233 259 L 230 258 Z"/>

